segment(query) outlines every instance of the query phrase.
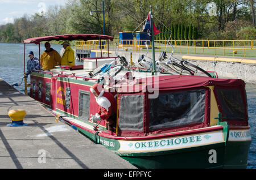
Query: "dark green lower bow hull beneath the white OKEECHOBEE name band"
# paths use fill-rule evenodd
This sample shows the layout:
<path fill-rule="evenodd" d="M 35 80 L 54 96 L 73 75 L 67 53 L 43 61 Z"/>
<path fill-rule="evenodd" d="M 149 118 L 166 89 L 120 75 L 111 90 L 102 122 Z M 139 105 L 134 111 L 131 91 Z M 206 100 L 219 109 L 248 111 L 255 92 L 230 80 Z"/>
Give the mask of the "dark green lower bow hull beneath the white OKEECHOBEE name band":
<path fill-rule="evenodd" d="M 166 155 L 153 156 L 121 156 L 138 168 L 156 169 L 196 169 L 225 168 L 245 169 L 250 148 L 250 141 L 232 142 L 219 145 L 207 145 L 200 148 L 179 150 Z M 216 157 L 210 151 L 214 149 Z M 214 161 L 216 158 L 216 161 Z"/>

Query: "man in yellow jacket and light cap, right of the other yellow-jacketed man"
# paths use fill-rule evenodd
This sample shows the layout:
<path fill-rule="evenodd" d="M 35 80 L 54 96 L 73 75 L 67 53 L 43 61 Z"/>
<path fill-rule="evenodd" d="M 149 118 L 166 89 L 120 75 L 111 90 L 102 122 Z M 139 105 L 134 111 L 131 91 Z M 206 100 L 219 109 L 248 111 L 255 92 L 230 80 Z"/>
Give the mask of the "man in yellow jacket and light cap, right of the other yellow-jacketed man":
<path fill-rule="evenodd" d="M 75 52 L 73 49 L 71 49 L 69 42 L 65 41 L 61 45 L 63 45 L 63 48 L 65 49 L 65 52 L 61 58 L 61 66 L 75 66 Z"/>

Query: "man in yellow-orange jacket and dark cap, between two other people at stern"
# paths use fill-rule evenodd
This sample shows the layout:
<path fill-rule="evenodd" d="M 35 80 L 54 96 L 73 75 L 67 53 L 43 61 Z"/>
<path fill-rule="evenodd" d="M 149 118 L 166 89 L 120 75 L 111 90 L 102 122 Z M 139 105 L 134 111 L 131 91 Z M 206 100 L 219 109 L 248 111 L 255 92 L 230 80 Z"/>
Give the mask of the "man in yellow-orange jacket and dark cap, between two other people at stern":
<path fill-rule="evenodd" d="M 42 53 L 40 57 L 43 70 L 51 70 L 55 66 L 60 65 L 60 54 L 56 50 L 51 48 L 51 44 L 49 44 L 49 42 L 46 42 L 46 44 L 44 44 L 44 47 L 46 47 L 46 50 Z"/>

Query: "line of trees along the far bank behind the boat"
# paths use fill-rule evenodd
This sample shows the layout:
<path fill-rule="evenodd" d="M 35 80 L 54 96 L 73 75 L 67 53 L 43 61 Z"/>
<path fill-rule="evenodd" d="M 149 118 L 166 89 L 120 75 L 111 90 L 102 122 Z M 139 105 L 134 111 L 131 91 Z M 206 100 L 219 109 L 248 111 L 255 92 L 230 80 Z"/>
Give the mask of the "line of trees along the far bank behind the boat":
<path fill-rule="evenodd" d="M 105 0 L 106 35 L 143 28 L 152 6 L 156 39 L 256 39 L 256 0 Z M 0 25 L 1 42 L 67 33 L 103 34 L 102 0 L 69 0 Z M 163 25 L 164 24 L 164 25 Z M 170 34 L 170 32 L 172 32 Z"/>

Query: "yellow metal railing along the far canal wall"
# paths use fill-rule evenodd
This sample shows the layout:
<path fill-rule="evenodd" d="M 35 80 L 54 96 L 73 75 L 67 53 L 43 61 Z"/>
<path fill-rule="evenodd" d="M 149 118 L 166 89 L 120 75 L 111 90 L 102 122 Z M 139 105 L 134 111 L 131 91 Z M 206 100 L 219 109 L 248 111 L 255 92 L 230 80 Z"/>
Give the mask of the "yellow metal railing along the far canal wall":
<path fill-rule="evenodd" d="M 236 50 L 243 50 L 243 52 L 240 54 L 243 54 L 243 56 L 246 56 L 246 50 L 255 50 L 256 46 L 255 41 L 256 40 L 169 40 L 172 42 L 175 48 L 178 49 L 177 53 L 183 53 L 183 54 L 205 54 L 205 50 L 207 49 L 214 49 L 214 52 L 211 52 L 212 55 L 217 55 L 217 50 L 222 49 L 223 55 L 225 56 L 227 53 L 225 50 L 233 50 L 233 56 L 237 53 Z M 87 41 L 86 41 L 87 42 Z M 119 40 L 115 38 L 110 44 L 110 46 L 118 44 L 118 50 L 120 48 L 122 49 L 128 49 L 132 48 L 135 52 L 140 52 L 141 48 L 144 48 L 144 42 L 147 42 L 148 46 L 151 47 L 151 41 L 150 40 Z M 77 41 L 75 43 L 76 48 L 78 49 L 86 49 L 86 50 L 94 50 L 99 49 L 99 45 L 96 41 L 94 41 L 96 44 L 92 44 L 92 42 L 88 42 L 85 44 L 82 41 Z M 163 49 L 167 51 L 171 50 L 172 47 L 167 46 L 168 40 L 155 40 L 155 48 L 158 48 L 159 52 Z M 240 43 L 240 45 L 238 45 Z M 105 46 L 104 46 L 105 48 Z M 183 49 L 187 49 L 187 51 L 184 51 Z M 193 49 L 193 52 L 191 52 L 190 49 Z M 199 52 L 198 49 L 201 49 L 202 51 Z M 190 51 L 189 51 L 190 50 Z M 220 53 L 218 53 L 220 54 Z"/>

